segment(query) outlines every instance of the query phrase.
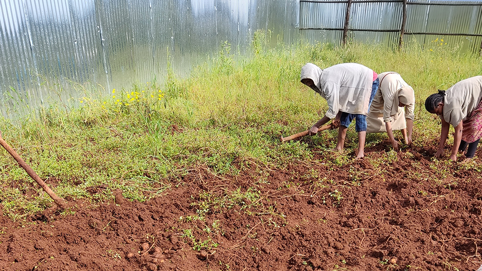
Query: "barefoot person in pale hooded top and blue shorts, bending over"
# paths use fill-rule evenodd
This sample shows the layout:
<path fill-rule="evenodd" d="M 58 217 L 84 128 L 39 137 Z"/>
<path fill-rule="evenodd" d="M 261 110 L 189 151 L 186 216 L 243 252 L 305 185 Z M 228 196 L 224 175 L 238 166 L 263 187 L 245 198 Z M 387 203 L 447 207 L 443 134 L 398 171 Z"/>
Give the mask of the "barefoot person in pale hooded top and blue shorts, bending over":
<path fill-rule="evenodd" d="M 328 103 L 328 111 L 310 128 L 309 135 L 316 134 L 318 128 L 333 119 L 338 129 L 338 142 L 335 151 L 343 151 L 346 130 L 353 118 L 358 132 L 358 155 L 364 157 L 367 136 L 367 114 L 377 92 L 377 73 L 357 63 L 343 63 L 324 70 L 312 63 L 301 68 L 301 82 L 321 95 Z"/>

